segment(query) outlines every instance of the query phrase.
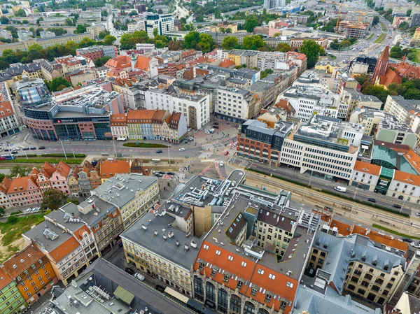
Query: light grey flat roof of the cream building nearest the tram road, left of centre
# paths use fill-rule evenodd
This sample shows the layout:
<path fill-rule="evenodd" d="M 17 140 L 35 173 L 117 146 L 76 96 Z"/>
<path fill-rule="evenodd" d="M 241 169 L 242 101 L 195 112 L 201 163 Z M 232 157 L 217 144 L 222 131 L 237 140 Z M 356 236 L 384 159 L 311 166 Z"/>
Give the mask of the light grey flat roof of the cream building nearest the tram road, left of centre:
<path fill-rule="evenodd" d="M 157 181 L 158 178 L 156 177 L 140 176 L 139 173 L 116 173 L 113 178 L 106 180 L 94 189 L 92 194 L 101 199 L 106 199 L 118 208 L 122 208 L 136 197 L 137 192 L 146 190 Z M 83 206 L 82 204 L 80 206 Z"/>

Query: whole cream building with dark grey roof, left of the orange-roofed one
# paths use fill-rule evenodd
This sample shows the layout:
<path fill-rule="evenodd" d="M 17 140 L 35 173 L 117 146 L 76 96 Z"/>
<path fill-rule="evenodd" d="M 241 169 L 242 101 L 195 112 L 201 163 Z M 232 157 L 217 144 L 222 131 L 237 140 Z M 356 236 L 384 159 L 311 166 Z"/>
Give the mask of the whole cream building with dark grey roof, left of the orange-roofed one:
<path fill-rule="evenodd" d="M 190 267 L 200 250 L 200 238 L 172 227 L 164 212 L 146 213 L 122 235 L 125 258 L 166 285 L 193 297 Z"/>

